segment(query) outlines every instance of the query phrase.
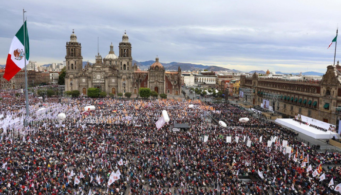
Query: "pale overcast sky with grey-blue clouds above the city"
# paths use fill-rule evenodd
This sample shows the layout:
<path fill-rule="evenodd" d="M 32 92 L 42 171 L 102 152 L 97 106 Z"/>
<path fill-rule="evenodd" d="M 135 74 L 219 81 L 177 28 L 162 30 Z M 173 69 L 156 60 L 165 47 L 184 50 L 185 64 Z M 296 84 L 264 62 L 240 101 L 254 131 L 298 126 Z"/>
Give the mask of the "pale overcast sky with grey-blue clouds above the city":
<path fill-rule="evenodd" d="M 83 61 L 104 58 L 124 30 L 133 59 L 241 71 L 317 71 L 333 64 L 341 0 L 6 0 L 0 4 L 0 64 L 27 11 L 30 60 L 65 60 L 75 29 Z M 341 47 L 341 43 L 340 47 Z M 341 59 L 341 48 L 336 60 Z"/>

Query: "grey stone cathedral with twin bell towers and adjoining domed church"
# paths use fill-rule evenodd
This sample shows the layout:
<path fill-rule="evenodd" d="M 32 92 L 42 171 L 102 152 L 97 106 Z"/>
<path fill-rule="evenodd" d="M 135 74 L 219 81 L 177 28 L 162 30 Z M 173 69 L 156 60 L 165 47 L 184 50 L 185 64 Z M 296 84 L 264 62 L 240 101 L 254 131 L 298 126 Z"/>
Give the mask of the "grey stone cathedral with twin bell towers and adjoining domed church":
<path fill-rule="evenodd" d="M 104 59 L 98 53 L 95 63 L 88 62 L 84 68 L 81 44 L 75 32 L 72 33 L 70 41 L 66 43 L 65 91 L 78 90 L 86 95 L 88 88 L 99 88 L 107 94 L 130 92 L 137 95 L 140 87 L 147 87 L 159 94 L 180 96 L 180 67 L 177 72 L 168 72 L 156 58 L 148 71 L 141 71 L 136 63 L 133 64 L 132 44 L 126 33 L 118 45 L 118 56 L 114 53 L 112 43 Z"/>

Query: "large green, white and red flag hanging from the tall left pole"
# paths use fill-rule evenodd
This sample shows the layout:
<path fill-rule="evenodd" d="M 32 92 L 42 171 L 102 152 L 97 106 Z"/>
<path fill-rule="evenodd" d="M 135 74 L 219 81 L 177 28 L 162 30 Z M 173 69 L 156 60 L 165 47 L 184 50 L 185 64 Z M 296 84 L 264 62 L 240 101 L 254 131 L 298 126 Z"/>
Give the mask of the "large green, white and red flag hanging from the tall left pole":
<path fill-rule="evenodd" d="M 28 64 L 28 59 L 30 57 L 30 47 L 28 41 L 27 25 L 25 25 L 25 42 L 26 42 L 26 64 Z M 14 36 L 11 47 L 8 52 L 5 74 L 3 78 L 10 80 L 13 78 L 22 68 L 25 67 L 24 59 L 24 25 L 21 26 L 16 36 Z"/>

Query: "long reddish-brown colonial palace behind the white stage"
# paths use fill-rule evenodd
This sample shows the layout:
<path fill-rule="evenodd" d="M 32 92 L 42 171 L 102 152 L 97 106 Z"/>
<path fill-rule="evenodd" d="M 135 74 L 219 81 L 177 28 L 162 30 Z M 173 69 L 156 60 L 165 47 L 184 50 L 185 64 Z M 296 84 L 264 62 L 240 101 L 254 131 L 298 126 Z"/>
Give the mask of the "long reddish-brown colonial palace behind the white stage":
<path fill-rule="evenodd" d="M 247 102 L 260 106 L 269 100 L 274 111 L 294 117 L 296 114 L 336 124 L 341 107 L 341 74 L 330 65 L 322 80 L 284 80 L 241 77 L 241 91 Z"/>

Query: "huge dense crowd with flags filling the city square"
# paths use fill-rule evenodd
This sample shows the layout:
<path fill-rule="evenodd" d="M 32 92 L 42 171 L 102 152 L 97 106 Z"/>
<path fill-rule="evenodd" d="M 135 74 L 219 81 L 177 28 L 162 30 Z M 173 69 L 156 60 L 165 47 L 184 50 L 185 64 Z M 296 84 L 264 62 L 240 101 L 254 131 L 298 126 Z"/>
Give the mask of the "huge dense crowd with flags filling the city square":
<path fill-rule="evenodd" d="M 339 194 L 339 153 L 317 152 L 239 105 L 83 97 L 43 102 L 30 95 L 24 127 L 24 97 L 13 93 L 0 93 L 0 195 Z M 95 110 L 84 113 L 88 105 Z M 170 121 L 157 129 L 162 110 Z M 60 112 L 65 119 L 57 119 Z M 173 132 L 174 123 L 190 128 Z M 284 151 L 284 141 L 292 153 Z M 309 155 L 305 165 L 301 155 Z M 313 176 L 320 164 L 328 165 L 322 181 Z"/>

